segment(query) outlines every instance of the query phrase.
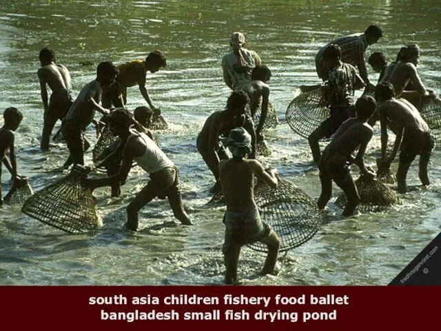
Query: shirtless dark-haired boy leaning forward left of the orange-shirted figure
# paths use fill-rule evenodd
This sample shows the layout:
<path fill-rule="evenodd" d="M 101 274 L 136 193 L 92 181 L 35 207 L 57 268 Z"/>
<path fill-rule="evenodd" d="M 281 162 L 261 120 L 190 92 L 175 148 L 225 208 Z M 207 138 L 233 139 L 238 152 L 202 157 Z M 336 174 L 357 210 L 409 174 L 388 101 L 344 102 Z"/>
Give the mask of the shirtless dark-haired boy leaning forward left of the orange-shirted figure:
<path fill-rule="evenodd" d="M 68 168 L 72 163 L 84 164 L 84 151 L 90 143 L 85 138 L 85 129 L 92 123 L 95 110 L 105 115 L 109 110 L 99 105 L 103 86 L 114 83 L 118 69 L 110 61 L 99 63 L 96 68 L 96 79 L 86 84 L 76 97 L 68 114 L 63 119 L 61 132 L 68 144 L 70 156 L 63 165 Z"/>

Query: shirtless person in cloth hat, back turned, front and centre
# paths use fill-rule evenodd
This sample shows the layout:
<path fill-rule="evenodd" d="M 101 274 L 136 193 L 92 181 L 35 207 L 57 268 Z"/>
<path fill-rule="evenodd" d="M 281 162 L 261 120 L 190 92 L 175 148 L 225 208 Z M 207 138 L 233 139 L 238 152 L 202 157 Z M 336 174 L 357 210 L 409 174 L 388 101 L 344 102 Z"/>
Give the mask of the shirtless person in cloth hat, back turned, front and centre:
<path fill-rule="evenodd" d="M 225 261 L 225 283 L 237 281 L 237 267 L 240 248 L 246 243 L 260 241 L 268 246 L 263 274 L 274 272 L 280 241 L 271 227 L 260 220 L 254 201 L 254 176 L 276 188 L 276 170 L 266 172 L 257 160 L 244 159 L 252 151 L 252 137 L 244 128 L 229 132 L 225 140 L 233 154 L 231 160 L 219 163 L 220 185 L 227 204 L 225 212 L 225 242 L 222 246 Z"/>

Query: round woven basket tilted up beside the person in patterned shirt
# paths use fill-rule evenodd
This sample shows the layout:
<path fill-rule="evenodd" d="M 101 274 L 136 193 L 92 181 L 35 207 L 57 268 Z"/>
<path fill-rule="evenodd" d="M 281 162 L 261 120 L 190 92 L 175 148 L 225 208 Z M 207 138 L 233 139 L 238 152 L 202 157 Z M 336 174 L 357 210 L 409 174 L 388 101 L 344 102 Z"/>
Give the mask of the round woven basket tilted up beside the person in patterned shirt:
<path fill-rule="evenodd" d="M 289 127 L 303 138 L 308 138 L 329 116 L 329 108 L 323 99 L 321 88 L 301 92 L 289 103 L 286 112 Z M 327 138 L 321 140 L 329 141 Z"/>

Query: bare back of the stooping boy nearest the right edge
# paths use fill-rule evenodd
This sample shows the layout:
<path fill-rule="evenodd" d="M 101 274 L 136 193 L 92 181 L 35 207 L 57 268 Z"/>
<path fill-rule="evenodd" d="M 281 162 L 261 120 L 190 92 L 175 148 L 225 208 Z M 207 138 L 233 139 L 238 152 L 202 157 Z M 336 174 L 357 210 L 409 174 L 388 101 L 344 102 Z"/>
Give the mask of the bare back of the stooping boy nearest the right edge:
<path fill-rule="evenodd" d="M 387 117 L 398 123 L 402 128 L 415 128 L 422 132 L 428 132 L 429 126 L 422 119 L 420 112 L 406 99 L 391 99 L 383 102 L 378 107 L 380 119 Z"/>

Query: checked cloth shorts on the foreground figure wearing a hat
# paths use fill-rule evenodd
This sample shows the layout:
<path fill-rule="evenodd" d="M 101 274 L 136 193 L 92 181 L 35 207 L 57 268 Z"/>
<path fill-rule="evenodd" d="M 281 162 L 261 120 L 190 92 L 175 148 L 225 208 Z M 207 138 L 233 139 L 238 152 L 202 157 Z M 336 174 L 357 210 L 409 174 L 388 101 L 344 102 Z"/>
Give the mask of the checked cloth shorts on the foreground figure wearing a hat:
<path fill-rule="evenodd" d="M 269 237 L 271 226 L 260 219 L 258 210 L 248 212 L 225 212 L 225 241 L 222 252 L 226 254 L 232 247 L 255 243 Z"/>

